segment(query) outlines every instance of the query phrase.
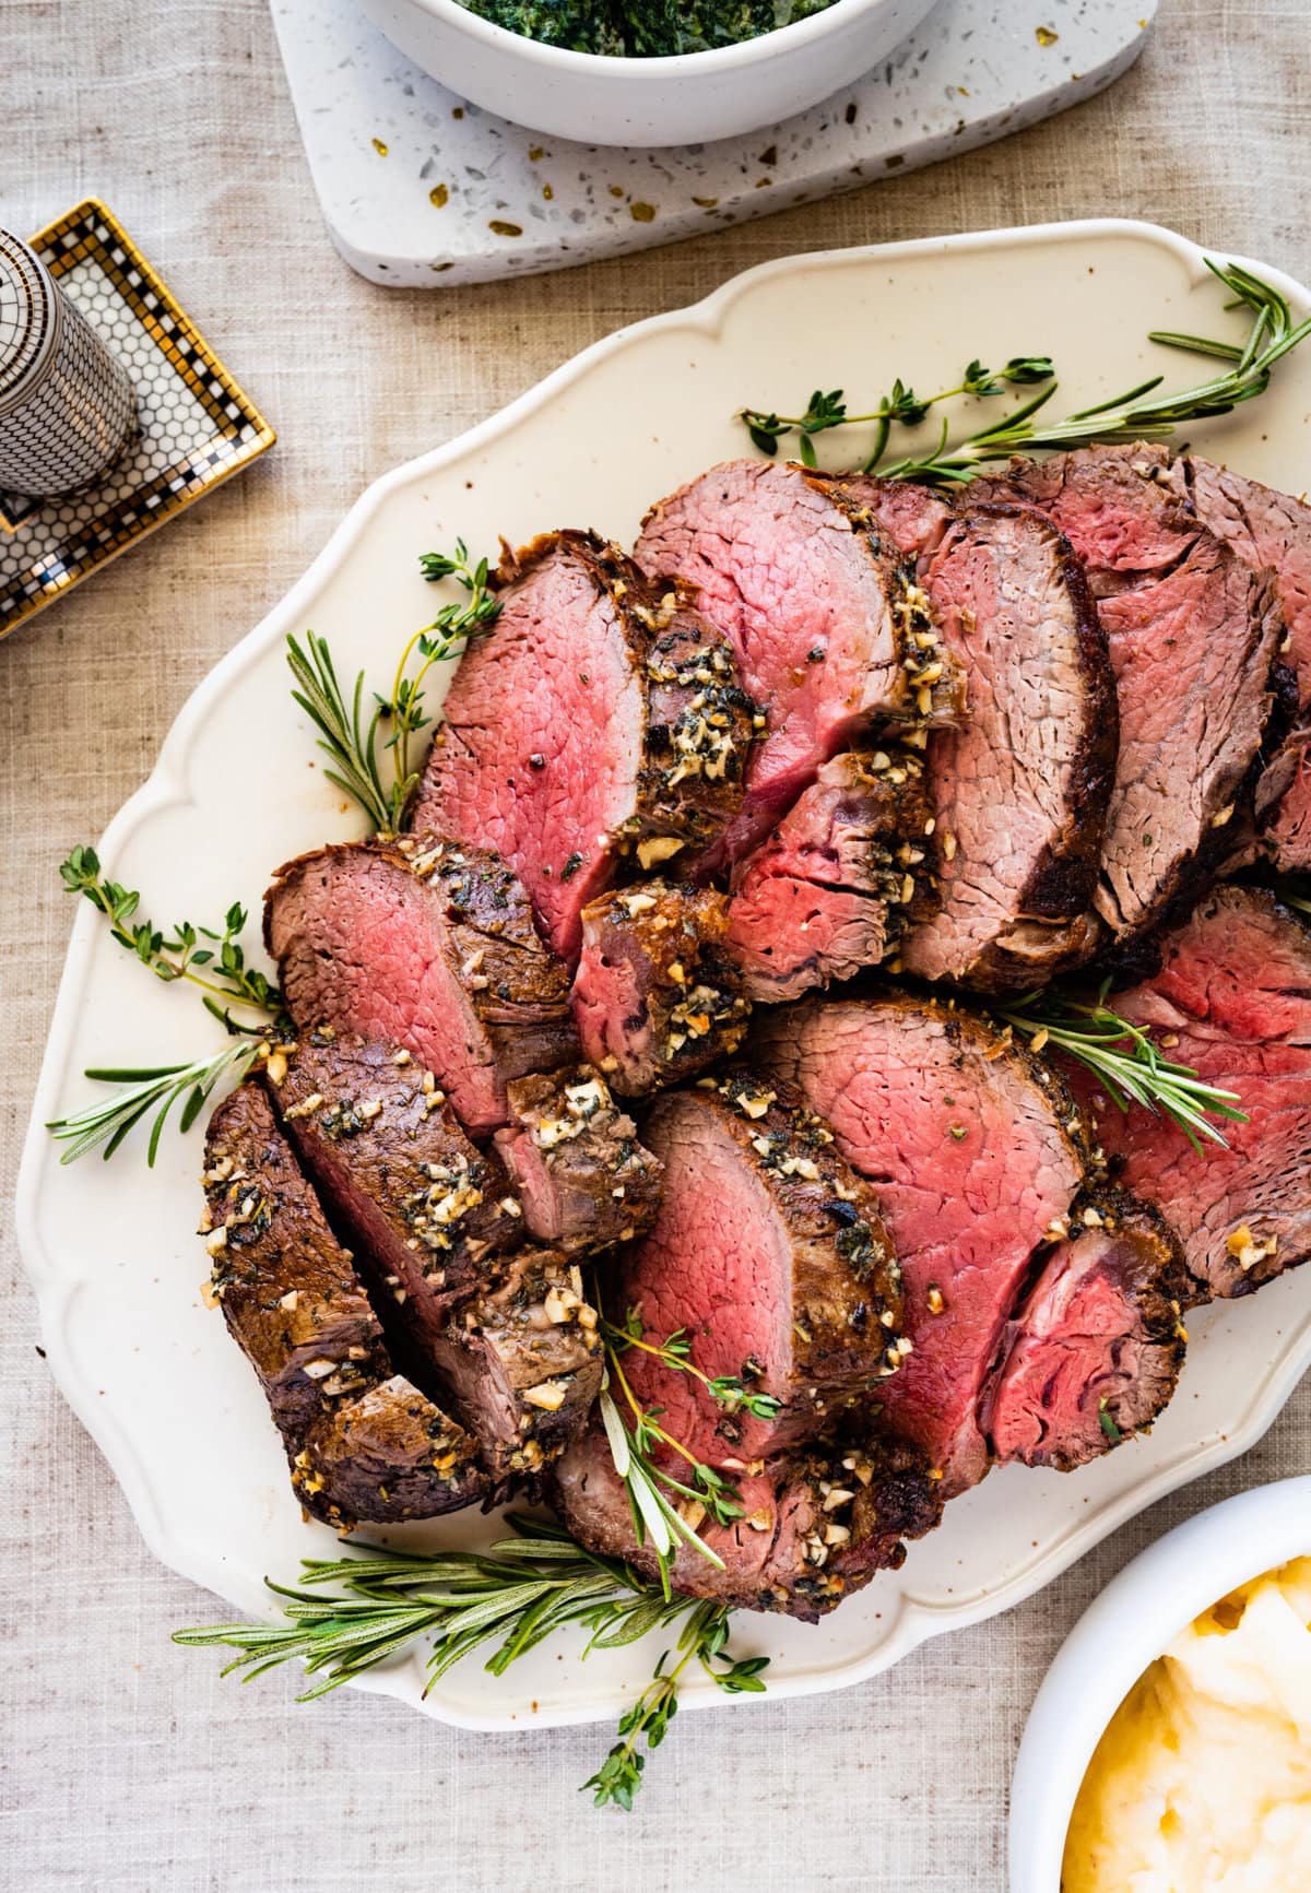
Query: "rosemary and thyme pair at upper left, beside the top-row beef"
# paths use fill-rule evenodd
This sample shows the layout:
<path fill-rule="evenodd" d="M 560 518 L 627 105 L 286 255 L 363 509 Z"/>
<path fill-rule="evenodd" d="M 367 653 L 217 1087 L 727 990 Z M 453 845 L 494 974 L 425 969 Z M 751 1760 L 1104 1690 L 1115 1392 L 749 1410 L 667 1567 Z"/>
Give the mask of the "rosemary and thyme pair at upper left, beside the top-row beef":
<path fill-rule="evenodd" d="M 292 697 L 318 731 L 316 744 L 332 763 L 324 776 L 364 810 L 379 835 L 402 833 L 419 791 L 413 738 L 432 721 L 422 697 L 428 672 L 462 657 L 470 638 L 485 632 L 500 613 L 500 600 L 487 583 L 487 560 L 470 564 L 464 540 L 455 541 L 455 553 L 424 553 L 419 564 L 430 583 L 455 579 L 468 598 L 441 606 L 432 623 L 409 638 L 388 697 L 373 693 L 369 706 L 360 670 L 347 699 L 326 638 L 311 630 L 303 646 L 294 634 L 286 640 L 286 663 L 296 680 Z M 415 661 L 419 668 L 411 676 Z"/>

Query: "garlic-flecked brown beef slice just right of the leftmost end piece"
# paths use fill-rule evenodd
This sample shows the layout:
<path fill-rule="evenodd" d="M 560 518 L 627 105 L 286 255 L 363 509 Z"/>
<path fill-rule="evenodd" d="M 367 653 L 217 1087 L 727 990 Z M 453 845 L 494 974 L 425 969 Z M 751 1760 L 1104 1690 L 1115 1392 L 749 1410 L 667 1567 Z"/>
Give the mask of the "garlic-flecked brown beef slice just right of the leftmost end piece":
<path fill-rule="evenodd" d="M 326 1026 L 275 1053 L 265 1077 L 337 1229 L 422 1348 L 523 1242 L 500 1162 L 470 1143 L 432 1071 L 404 1047 Z"/>

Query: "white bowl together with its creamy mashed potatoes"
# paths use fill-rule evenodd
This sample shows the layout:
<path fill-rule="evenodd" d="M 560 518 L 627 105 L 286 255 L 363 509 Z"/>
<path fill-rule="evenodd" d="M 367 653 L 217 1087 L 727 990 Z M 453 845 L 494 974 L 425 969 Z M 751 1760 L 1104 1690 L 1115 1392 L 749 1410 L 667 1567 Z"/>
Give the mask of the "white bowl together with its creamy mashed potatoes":
<path fill-rule="evenodd" d="M 1311 1478 L 1135 1558 L 1033 1706 L 1010 1893 L 1311 1893 Z"/>

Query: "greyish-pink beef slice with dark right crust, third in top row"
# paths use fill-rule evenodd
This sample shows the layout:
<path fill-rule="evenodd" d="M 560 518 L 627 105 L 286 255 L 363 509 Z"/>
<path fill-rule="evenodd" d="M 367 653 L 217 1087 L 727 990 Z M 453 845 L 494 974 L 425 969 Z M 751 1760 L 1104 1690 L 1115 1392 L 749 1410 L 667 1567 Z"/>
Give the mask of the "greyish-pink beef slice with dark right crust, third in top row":
<path fill-rule="evenodd" d="M 921 540 L 915 515 L 906 549 Z M 1106 638 L 1069 541 L 1027 507 L 964 505 L 919 581 L 970 714 L 928 738 L 940 905 L 909 929 L 902 964 L 1027 990 L 1099 939 L 1089 905 L 1118 748 Z"/>

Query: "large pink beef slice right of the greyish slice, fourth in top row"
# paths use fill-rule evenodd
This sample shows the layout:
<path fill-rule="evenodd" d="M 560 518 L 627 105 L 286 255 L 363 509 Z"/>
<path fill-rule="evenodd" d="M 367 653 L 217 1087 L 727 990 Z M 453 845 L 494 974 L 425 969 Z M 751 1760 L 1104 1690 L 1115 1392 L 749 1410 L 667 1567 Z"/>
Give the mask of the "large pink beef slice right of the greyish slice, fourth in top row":
<path fill-rule="evenodd" d="M 1097 598 L 1120 759 L 1095 907 L 1112 941 L 1127 941 L 1203 884 L 1250 823 L 1288 685 L 1275 587 L 1169 490 L 1150 445 L 1017 460 L 978 490 L 1055 521 Z"/>

